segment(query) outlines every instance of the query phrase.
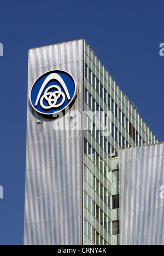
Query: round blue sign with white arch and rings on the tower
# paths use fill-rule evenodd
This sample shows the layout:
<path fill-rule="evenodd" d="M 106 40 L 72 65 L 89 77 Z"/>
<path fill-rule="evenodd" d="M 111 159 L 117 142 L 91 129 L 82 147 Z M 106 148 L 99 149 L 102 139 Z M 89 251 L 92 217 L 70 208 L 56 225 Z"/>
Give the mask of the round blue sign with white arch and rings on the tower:
<path fill-rule="evenodd" d="M 30 102 L 37 112 L 53 115 L 70 105 L 75 96 L 73 77 L 66 71 L 52 70 L 44 73 L 33 84 Z"/>

